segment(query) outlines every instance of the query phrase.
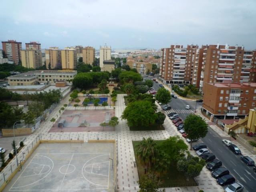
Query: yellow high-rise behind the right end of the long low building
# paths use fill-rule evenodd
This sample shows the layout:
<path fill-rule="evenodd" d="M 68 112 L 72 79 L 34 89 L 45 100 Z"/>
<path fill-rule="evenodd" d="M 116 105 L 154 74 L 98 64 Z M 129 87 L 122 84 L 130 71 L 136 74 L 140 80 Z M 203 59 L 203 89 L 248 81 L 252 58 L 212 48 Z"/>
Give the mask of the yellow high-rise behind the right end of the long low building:
<path fill-rule="evenodd" d="M 77 50 L 66 47 L 61 50 L 62 70 L 74 70 L 77 67 Z"/>

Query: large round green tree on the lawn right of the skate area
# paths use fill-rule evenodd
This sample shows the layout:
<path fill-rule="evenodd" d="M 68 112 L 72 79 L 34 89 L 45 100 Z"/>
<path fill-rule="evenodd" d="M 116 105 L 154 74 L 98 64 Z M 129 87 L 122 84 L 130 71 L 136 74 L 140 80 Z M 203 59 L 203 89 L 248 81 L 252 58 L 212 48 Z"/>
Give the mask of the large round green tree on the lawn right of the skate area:
<path fill-rule="evenodd" d="M 128 104 L 123 111 L 122 118 L 127 120 L 130 127 L 146 127 L 155 123 L 157 115 L 151 102 L 139 100 Z"/>

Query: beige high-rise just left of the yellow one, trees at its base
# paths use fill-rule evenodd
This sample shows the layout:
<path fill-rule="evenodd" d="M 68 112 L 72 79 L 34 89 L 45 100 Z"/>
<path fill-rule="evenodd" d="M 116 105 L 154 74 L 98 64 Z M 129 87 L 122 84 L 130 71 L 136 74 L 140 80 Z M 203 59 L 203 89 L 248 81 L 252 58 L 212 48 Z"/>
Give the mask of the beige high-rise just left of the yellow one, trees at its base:
<path fill-rule="evenodd" d="M 45 50 L 46 68 L 54 69 L 61 66 L 61 50 L 58 47 L 50 47 Z M 49 65 L 50 64 L 50 65 Z"/>

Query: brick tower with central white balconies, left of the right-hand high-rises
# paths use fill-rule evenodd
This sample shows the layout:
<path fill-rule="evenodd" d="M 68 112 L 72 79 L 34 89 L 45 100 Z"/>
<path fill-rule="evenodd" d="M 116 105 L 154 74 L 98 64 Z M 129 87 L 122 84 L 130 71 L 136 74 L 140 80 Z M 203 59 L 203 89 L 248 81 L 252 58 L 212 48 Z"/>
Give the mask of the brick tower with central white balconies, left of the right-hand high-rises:
<path fill-rule="evenodd" d="M 164 83 L 191 83 L 197 49 L 197 45 L 162 48 L 159 78 Z"/>

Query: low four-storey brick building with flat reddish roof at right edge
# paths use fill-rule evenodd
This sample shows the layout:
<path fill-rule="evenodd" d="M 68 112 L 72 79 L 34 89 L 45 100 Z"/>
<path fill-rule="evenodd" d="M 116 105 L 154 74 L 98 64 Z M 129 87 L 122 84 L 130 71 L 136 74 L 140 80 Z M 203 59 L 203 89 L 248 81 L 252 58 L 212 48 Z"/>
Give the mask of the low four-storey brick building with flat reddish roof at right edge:
<path fill-rule="evenodd" d="M 208 115 L 234 119 L 255 108 L 256 83 L 205 83 L 202 110 Z"/>

